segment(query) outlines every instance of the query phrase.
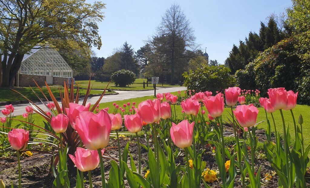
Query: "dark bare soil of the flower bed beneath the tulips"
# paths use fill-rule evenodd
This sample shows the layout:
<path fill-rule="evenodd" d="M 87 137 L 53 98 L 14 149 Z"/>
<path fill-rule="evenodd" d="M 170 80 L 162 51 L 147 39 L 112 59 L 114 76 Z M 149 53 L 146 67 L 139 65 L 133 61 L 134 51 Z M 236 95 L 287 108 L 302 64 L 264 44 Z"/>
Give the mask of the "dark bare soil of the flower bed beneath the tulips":
<path fill-rule="evenodd" d="M 142 136 L 140 139 L 140 142 L 146 145 L 146 141 L 143 139 Z M 118 151 L 117 151 L 117 142 L 116 140 L 111 140 L 110 146 L 115 146 L 115 150 L 109 150 L 107 151 L 106 155 L 110 155 L 109 157 L 118 159 Z M 129 151 L 133 155 L 133 158 L 135 160 L 136 166 L 138 168 L 138 148 L 135 140 L 130 141 L 129 138 L 121 139 L 121 147 L 125 147 L 126 143 L 130 142 Z M 36 155 L 36 153 L 34 153 Z M 142 167 L 141 171 L 144 176 L 146 173 L 147 165 L 143 161 L 143 159 L 147 160 L 147 151 L 144 150 L 141 147 L 141 157 L 142 157 Z M 176 163 L 184 164 L 184 153 L 180 154 L 179 157 L 176 159 Z M 25 157 L 21 157 L 21 159 L 26 159 Z M 203 155 L 203 160 L 206 161 L 207 168 L 213 169 L 216 171 L 217 164 L 214 158 L 214 154 L 212 153 L 212 148 L 207 148 L 205 154 Z M 105 168 L 105 177 L 108 178 L 108 171 L 110 169 L 110 160 L 105 159 L 104 162 L 104 168 Z M 51 157 L 45 156 L 42 158 L 38 158 L 37 160 L 29 160 L 22 164 L 21 174 L 22 174 L 22 187 L 31 187 L 31 188 L 47 188 L 52 186 L 52 182 L 54 180 L 54 176 L 50 173 L 50 164 L 51 164 Z M 129 160 L 128 160 L 129 165 Z M 263 179 L 265 177 L 266 173 L 271 173 L 272 167 L 270 166 L 270 163 L 267 160 L 263 159 L 257 159 L 255 161 L 255 169 L 258 169 L 260 166 L 261 168 L 261 178 Z M 70 183 L 71 187 L 75 187 L 75 178 L 76 178 L 76 169 L 70 170 L 73 174 L 70 174 Z M 2 157 L 0 158 L 0 179 L 4 181 L 4 183 L 9 186 L 11 184 L 11 181 L 13 181 L 14 185 L 17 186 L 18 184 L 18 168 L 17 168 L 17 158 L 15 156 L 15 153 L 12 153 L 10 157 Z M 85 180 L 85 187 L 88 187 L 88 178 L 87 173 L 84 174 L 84 180 Z M 92 171 L 92 181 L 94 187 L 101 187 L 101 175 L 100 175 L 100 166 Z M 277 175 L 273 176 L 271 181 L 264 184 L 262 187 L 277 187 L 278 177 Z M 219 188 L 220 178 L 215 181 L 212 184 L 209 184 L 211 187 Z M 249 183 L 248 180 L 246 183 Z M 127 181 L 125 180 L 125 187 L 129 187 L 127 184 Z M 307 187 L 310 186 L 310 182 L 307 182 Z M 201 185 L 203 187 L 203 185 Z M 234 187 L 240 188 L 241 187 L 241 181 L 240 176 L 237 175 L 235 180 Z"/>

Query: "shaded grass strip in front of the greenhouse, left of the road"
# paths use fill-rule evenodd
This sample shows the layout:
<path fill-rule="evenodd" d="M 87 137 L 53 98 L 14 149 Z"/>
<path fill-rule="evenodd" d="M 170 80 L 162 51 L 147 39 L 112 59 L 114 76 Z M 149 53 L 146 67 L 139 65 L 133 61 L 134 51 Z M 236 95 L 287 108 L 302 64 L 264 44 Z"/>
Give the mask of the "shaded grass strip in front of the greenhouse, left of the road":
<path fill-rule="evenodd" d="M 21 94 L 23 94 L 24 96 L 26 96 L 30 100 L 38 99 L 37 96 L 35 96 L 33 91 L 30 89 L 30 87 L 16 87 L 16 88 L 13 88 L 13 89 L 18 91 L 18 92 L 20 92 Z M 43 98 L 43 95 L 42 95 L 41 91 L 38 88 L 33 87 L 32 89 L 41 98 Z M 44 94 L 49 96 L 47 88 L 42 87 L 42 90 L 43 90 Z M 55 86 L 53 87 L 52 86 L 51 87 L 51 91 L 53 92 L 55 97 L 59 96 L 59 88 L 58 87 L 55 87 Z M 63 89 L 62 89 L 62 91 L 63 91 Z M 85 95 L 86 94 L 86 90 L 80 90 L 79 92 L 81 93 L 81 95 Z M 107 93 L 111 93 L 111 92 L 107 91 Z M 90 94 L 102 94 L 102 91 L 100 91 L 100 90 L 91 90 Z M 10 101 L 19 101 L 19 100 L 25 100 L 25 99 L 23 97 L 21 97 L 19 94 L 17 94 L 16 92 L 11 91 L 11 89 L 9 89 L 9 88 L 0 88 L 0 102 L 2 102 L 2 101 L 10 102 Z"/>

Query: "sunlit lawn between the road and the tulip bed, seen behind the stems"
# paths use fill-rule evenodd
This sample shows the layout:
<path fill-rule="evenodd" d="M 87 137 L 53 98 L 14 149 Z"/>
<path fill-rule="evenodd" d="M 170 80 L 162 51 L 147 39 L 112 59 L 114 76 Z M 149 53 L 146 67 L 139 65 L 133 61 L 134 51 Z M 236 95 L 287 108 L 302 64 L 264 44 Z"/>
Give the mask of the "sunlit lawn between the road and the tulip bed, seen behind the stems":
<path fill-rule="evenodd" d="M 174 92 L 173 94 L 177 94 L 177 92 Z M 181 94 L 184 94 L 184 92 L 181 92 Z M 114 109 L 114 106 L 113 106 L 113 103 L 117 103 L 119 104 L 120 107 L 122 107 L 122 104 L 125 104 L 127 102 L 130 102 L 132 104 L 132 102 L 136 102 L 136 106 L 144 101 L 144 100 L 147 100 L 147 99 L 153 99 L 154 97 L 153 96 L 146 96 L 146 97 L 139 97 L 139 98 L 132 98 L 132 99 L 126 99 L 126 100 L 122 100 L 122 101 L 117 101 L 117 102 L 107 102 L 107 103 L 101 103 L 99 105 L 99 108 L 102 109 L 102 108 L 105 108 L 105 107 L 109 107 L 109 112 L 112 112 L 113 109 Z M 180 105 L 176 105 L 175 106 L 175 109 L 177 111 L 177 116 L 178 117 L 181 117 L 182 114 L 181 114 L 181 106 Z M 204 110 L 206 110 L 205 107 L 203 107 Z M 127 109 L 128 110 L 128 109 Z M 306 106 L 306 105 L 297 105 L 295 108 L 294 108 L 294 115 L 295 115 L 295 119 L 296 119 L 296 122 L 298 122 L 298 118 L 299 118 L 299 115 L 302 114 L 303 116 L 303 134 L 304 134 L 304 143 L 306 146 L 308 146 L 308 144 L 310 143 L 310 106 Z M 292 117 L 291 117 L 291 114 L 290 114 L 290 111 L 283 111 L 283 114 L 284 114 L 284 119 L 285 119 L 285 122 L 286 122 L 286 127 L 289 125 L 290 126 L 290 134 L 291 134 L 291 142 L 294 141 L 294 124 L 293 124 L 293 120 L 292 120 Z M 280 112 L 279 111 L 276 111 L 273 113 L 273 116 L 275 118 L 275 122 L 276 122 L 276 127 L 277 127 L 277 131 L 279 131 L 280 133 L 282 133 L 283 131 L 283 125 L 282 125 L 282 120 L 281 120 L 281 115 L 280 115 Z M 207 118 L 207 113 L 205 114 L 205 117 Z M 33 115 L 33 118 L 35 119 L 35 124 L 36 125 L 40 125 L 40 126 L 43 126 L 43 118 L 37 114 L 34 114 Z M 224 113 L 223 113 L 223 120 L 227 121 L 229 119 L 231 119 L 230 117 L 230 108 L 224 108 Z M 272 124 L 272 119 L 271 119 L 271 116 L 268 115 L 268 118 L 270 120 L 270 123 L 271 123 L 271 129 L 272 131 L 274 130 L 273 129 L 273 124 Z M 20 120 L 23 120 L 23 117 L 22 116 L 17 116 L 16 119 L 20 119 Z M 263 108 L 259 108 L 259 114 L 258 114 L 258 117 L 257 117 L 257 122 L 260 122 L 260 121 L 263 121 L 263 120 L 266 120 L 266 116 L 265 116 L 265 111 Z M 17 125 L 19 122 L 18 121 L 13 121 L 13 125 Z M 260 123 L 258 125 L 259 129 L 266 129 L 266 121 Z M 293 143 L 291 143 L 291 145 L 293 145 Z"/>

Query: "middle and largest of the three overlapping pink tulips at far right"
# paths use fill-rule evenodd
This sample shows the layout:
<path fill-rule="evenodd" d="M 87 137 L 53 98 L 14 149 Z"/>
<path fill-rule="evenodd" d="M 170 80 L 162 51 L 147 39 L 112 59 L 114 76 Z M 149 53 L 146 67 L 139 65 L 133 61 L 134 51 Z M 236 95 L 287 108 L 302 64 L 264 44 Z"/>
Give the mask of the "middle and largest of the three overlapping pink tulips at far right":
<path fill-rule="evenodd" d="M 270 103 L 275 110 L 287 107 L 287 92 L 284 87 L 268 89 Z"/>

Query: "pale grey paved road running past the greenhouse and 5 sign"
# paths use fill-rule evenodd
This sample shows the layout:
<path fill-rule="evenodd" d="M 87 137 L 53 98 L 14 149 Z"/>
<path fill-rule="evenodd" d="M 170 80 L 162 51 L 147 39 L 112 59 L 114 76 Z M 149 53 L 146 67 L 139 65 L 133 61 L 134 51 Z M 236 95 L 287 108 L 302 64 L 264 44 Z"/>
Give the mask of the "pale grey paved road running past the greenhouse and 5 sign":
<path fill-rule="evenodd" d="M 186 87 L 167 87 L 167 88 L 157 88 L 156 93 L 167 93 L 167 92 L 175 92 L 175 91 L 181 91 L 181 90 L 186 90 Z M 137 97 L 144 97 L 144 96 L 150 96 L 154 95 L 154 90 L 149 90 L 149 91 L 116 91 L 119 94 L 117 95 L 106 95 L 104 96 L 100 103 L 105 103 L 105 102 L 112 102 L 112 101 L 121 101 L 121 100 L 126 100 L 129 98 L 137 98 Z M 100 98 L 100 96 L 95 96 L 95 97 L 89 97 L 87 99 L 87 102 L 91 104 L 95 104 L 97 100 Z M 80 98 L 80 104 L 84 98 Z M 60 103 L 60 101 L 59 101 Z M 46 107 L 42 103 L 36 103 L 38 107 L 42 109 L 46 109 Z M 14 104 L 14 116 L 19 116 L 25 113 L 25 107 L 28 106 L 29 104 Z M 4 106 L 0 107 L 0 110 L 2 110 Z M 3 117 L 3 114 L 0 113 L 0 117 Z"/>

